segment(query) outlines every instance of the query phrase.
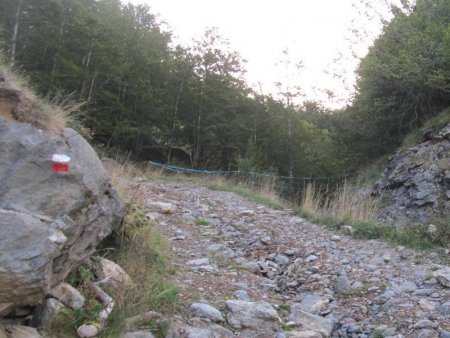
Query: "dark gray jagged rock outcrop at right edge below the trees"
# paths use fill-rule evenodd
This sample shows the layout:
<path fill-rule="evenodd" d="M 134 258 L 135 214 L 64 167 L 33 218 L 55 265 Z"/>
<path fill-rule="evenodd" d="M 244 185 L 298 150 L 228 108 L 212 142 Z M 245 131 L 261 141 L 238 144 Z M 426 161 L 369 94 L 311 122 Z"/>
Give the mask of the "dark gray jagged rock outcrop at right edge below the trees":
<path fill-rule="evenodd" d="M 450 214 L 450 124 L 393 156 L 373 194 L 389 201 L 381 216 L 397 223 L 429 222 Z"/>

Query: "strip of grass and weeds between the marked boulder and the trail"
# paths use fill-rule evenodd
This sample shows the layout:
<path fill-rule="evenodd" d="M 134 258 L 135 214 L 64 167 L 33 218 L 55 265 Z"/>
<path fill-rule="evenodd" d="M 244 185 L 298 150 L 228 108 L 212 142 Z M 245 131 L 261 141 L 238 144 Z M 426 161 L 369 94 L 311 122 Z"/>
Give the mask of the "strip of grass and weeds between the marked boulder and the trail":
<path fill-rule="evenodd" d="M 145 217 L 144 207 L 136 199 L 138 184 L 132 182 L 146 177 L 145 172 L 127 156 L 118 159 L 123 163 L 110 162 L 108 169 L 125 202 L 126 214 L 118 231 L 102 243 L 91 261 L 101 257 L 114 261 L 124 268 L 132 285 L 113 291 L 115 307 L 99 337 L 118 337 L 143 328 L 151 330 L 155 337 L 165 337 L 168 323 L 162 318 L 180 310 L 179 289 L 174 283 L 176 269 L 166 239 Z M 85 283 L 96 280 L 91 263 L 82 265 L 68 277 L 67 282 L 86 296 L 86 305 L 80 310 L 65 309 L 48 323 L 48 336 L 74 337 L 80 325 L 95 322 L 102 305 L 89 294 Z M 129 318 L 149 311 L 153 315 L 130 322 Z"/>

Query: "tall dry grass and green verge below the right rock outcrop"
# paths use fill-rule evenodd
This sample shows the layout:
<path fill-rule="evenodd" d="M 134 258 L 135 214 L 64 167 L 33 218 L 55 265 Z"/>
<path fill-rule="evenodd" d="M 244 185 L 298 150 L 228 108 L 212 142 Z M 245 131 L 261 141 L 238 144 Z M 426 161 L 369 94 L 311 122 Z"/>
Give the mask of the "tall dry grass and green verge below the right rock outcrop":
<path fill-rule="evenodd" d="M 424 224 L 396 225 L 377 220 L 381 201 L 364 192 L 358 185 L 343 182 L 331 195 L 325 195 L 309 184 L 302 196 L 299 214 L 312 222 L 339 229 L 351 225 L 353 236 L 362 239 L 381 239 L 414 249 L 449 247 L 448 220 L 434 220 L 436 233 Z"/>

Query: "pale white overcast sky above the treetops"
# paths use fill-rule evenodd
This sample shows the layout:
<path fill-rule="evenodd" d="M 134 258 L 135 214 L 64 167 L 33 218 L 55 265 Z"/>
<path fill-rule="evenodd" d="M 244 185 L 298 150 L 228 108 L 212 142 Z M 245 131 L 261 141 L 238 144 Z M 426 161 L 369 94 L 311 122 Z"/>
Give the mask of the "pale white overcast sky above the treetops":
<path fill-rule="evenodd" d="M 126 0 L 124 0 L 126 1 Z M 146 3 L 168 23 L 177 42 L 192 44 L 206 28 L 218 27 L 231 47 L 248 62 L 246 79 L 264 93 L 276 94 L 274 83 L 300 85 L 307 99 L 342 105 L 352 92 L 357 63 L 379 34 L 377 12 L 386 12 L 386 0 L 132 0 Z M 356 5 L 352 6 L 352 5 Z M 364 14 L 362 11 L 365 11 Z M 351 29 L 360 32 L 357 38 Z M 280 66 L 283 50 L 292 63 L 302 62 L 300 72 Z M 340 62 L 334 60 L 342 54 Z M 276 65 L 278 63 L 278 66 Z M 326 74 L 328 72 L 328 74 Z M 339 73 L 346 84 L 333 76 Z M 346 88 L 347 87 L 347 88 Z M 323 93 L 336 93 L 334 103 Z"/>

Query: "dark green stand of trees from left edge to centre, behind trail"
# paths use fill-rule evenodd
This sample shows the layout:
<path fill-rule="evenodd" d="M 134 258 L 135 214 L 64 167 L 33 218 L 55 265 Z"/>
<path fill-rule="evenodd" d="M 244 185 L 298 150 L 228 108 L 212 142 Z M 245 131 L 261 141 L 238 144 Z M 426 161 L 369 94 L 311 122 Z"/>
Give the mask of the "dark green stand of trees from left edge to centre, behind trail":
<path fill-rule="evenodd" d="M 216 29 L 191 49 L 172 47 L 149 7 L 118 0 L 7 0 L 0 25 L 4 52 L 15 44 L 16 67 L 40 94 L 87 102 L 78 125 L 106 149 L 199 168 L 285 175 L 292 159 L 296 176 L 340 169 L 329 131 L 300 108 L 253 93 L 244 61 Z"/>

